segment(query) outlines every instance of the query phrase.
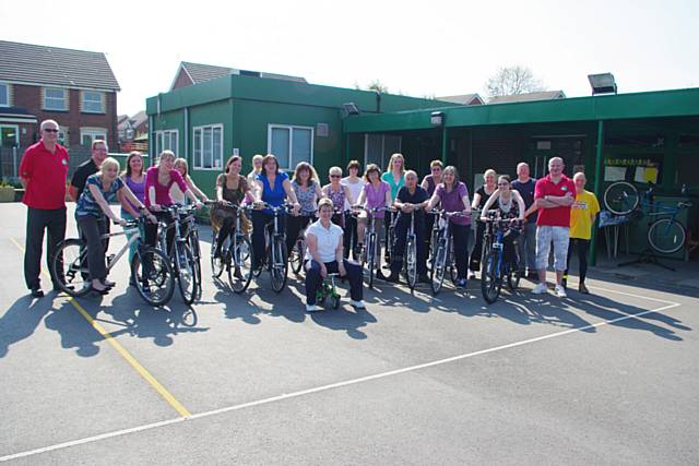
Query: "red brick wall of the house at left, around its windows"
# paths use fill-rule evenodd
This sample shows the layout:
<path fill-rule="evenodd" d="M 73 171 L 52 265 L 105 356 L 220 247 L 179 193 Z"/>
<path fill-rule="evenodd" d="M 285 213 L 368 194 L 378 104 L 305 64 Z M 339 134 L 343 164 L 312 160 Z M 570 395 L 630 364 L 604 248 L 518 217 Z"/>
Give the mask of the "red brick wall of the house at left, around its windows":
<path fill-rule="evenodd" d="M 12 105 L 29 110 L 42 122 L 46 119 L 58 121 L 61 128 L 68 128 L 70 145 L 80 144 L 80 129 L 84 127 L 104 128 L 107 130 L 107 144 L 115 151 L 117 144 L 117 94 L 106 93 L 105 113 L 82 113 L 80 111 L 80 91 L 69 89 L 69 110 L 48 111 L 42 109 L 42 87 L 12 85 Z M 31 131 L 27 130 L 27 133 Z M 38 124 L 33 134 L 26 135 L 31 141 L 39 139 Z M 111 148 L 110 148 L 111 150 Z"/>

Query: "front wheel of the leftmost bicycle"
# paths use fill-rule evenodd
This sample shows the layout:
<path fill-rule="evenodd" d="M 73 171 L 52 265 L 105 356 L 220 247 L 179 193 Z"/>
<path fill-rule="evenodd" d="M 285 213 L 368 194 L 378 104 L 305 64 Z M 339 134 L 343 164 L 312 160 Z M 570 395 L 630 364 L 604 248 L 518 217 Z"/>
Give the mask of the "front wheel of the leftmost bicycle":
<path fill-rule="evenodd" d="M 175 292 L 170 260 L 158 249 L 147 247 L 133 254 L 131 277 L 141 298 L 151 306 L 165 304 Z"/>

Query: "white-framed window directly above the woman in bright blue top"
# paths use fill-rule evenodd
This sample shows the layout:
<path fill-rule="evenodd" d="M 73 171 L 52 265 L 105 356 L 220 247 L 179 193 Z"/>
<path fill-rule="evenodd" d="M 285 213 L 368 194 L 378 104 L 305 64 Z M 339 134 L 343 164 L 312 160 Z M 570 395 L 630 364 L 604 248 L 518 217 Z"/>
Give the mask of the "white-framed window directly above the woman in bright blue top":
<path fill-rule="evenodd" d="M 299 162 L 313 162 L 313 128 L 270 124 L 268 152 L 274 154 L 280 168 L 293 169 Z"/>

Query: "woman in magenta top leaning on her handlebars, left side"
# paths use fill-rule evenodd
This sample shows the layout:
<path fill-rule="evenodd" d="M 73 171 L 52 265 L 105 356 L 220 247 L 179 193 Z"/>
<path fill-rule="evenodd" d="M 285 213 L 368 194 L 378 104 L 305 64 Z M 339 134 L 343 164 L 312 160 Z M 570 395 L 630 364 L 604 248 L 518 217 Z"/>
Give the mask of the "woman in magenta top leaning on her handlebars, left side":
<path fill-rule="evenodd" d="M 158 219 L 163 219 L 162 206 L 173 205 L 170 198 L 170 187 L 177 183 L 186 196 L 192 200 L 197 208 L 203 204 L 199 202 L 194 193 L 189 189 L 182 176 L 175 169 L 175 154 L 173 151 L 163 151 L 155 167 L 149 168 L 145 172 L 145 206 L 155 214 Z M 170 229 L 167 234 L 167 249 L 169 250 L 175 231 Z M 157 241 L 157 224 L 145 224 L 145 243 L 155 246 Z"/>

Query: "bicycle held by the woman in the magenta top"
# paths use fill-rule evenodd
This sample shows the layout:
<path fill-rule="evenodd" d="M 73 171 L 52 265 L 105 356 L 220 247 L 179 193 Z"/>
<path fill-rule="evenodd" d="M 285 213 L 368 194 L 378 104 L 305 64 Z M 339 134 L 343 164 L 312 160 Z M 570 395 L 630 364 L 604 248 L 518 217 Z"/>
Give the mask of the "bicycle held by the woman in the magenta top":
<path fill-rule="evenodd" d="M 181 225 L 189 222 L 188 217 L 193 217 L 194 206 L 162 206 L 162 212 L 169 216 L 170 222 L 159 222 L 158 239 L 161 251 L 167 251 L 167 256 L 173 265 L 173 270 L 177 274 L 177 286 L 179 288 L 182 301 L 186 304 L 192 304 L 199 296 L 199 284 L 201 278 L 198 276 L 198 268 L 194 261 L 194 253 L 186 237 L 181 236 Z M 183 219 L 182 219 L 183 216 Z M 167 231 L 174 229 L 175 236 L 169 250 L 167 248 Z"/>

